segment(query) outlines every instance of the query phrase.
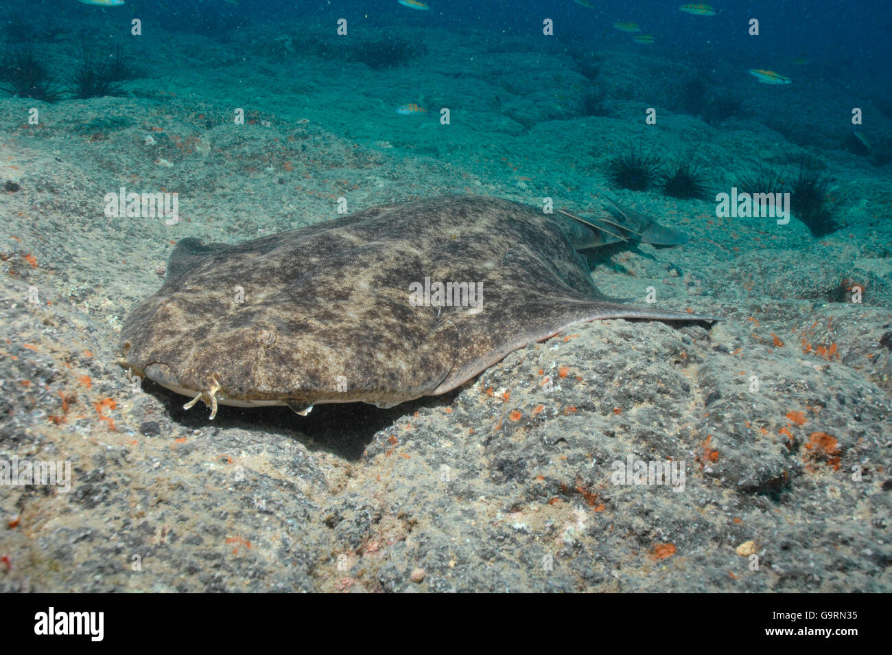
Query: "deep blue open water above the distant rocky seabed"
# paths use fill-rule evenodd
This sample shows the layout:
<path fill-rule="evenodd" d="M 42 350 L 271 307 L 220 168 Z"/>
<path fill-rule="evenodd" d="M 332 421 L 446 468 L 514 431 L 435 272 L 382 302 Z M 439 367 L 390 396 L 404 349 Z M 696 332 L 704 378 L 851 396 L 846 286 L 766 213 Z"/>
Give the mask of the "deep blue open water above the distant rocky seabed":
<path fill-rule="evenodd" d="M 31 3 L 33 4 L 33 3 Z M 62 11 L 77 3 L 62 4 Z M 593 0 L 593 9 L 573 0 L 536 2 L 431 2 L 429 11 L 416 11 L 387 2 L 294 2 L 267 3 L 243 0 L 237 5 L 222 0 L 194 3 L 128 3 L 133 15 L 168 23 L 195 23 L 197 14 L 232 17 L 243 24 L 268 22 L 281 29 L 292 21 L 334 25 L 347 19 L 354 29 L 385 29 L 391 25 L 410 26 L 423 32 L 437 27 L 461 32 L 489 29 L 493 34 L 541 37 L 541 20 L 555 21 L 555 45 L 612 48 L 627 45 L 625 35 L 616 32 L 615 21 L 633 21 L 654 35 L 660 53 L 677 58 L 705 58 L 709 61 L 739 62 L 747 68 L 754 62 L 780 56 L 805 54 L 811 62 L 838 67 L 854 79 L 885 83 L 888 89 L 888 52 L 892 38 L 892 4 L 884 0 L 810 0 L 805 2 L 714 2 L 719 13 L 696 16 L 679 11 L 680 0 Z M 111 10 L 109 10 L 111 11 Z M 115 10 L 117 11 L 117 10 Z M 129 13 L 129 11 L 128 11 Z M 747 34 L 751 19 L 760 21 L 761 34 Z"/>

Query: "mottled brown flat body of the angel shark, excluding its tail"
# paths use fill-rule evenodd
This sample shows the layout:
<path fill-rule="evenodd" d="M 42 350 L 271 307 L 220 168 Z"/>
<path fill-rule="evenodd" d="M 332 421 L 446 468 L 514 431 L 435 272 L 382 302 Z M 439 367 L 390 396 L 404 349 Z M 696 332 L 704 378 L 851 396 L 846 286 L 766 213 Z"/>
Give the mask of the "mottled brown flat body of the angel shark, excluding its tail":
<path fill-rule="evenodd" d="M 710 319 L 608 301 L 566 221 L 444 196 L 172 261 L 128 317 L 121 349 L 136 373 L 164 364 L 168 381 L 219 386 L 219 399 L 389 405 L 445 393 L 574 323 Z M 483 311 L 411 306 L 409 285 L 425 277 L 483 282 Z"/>

